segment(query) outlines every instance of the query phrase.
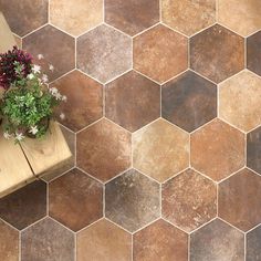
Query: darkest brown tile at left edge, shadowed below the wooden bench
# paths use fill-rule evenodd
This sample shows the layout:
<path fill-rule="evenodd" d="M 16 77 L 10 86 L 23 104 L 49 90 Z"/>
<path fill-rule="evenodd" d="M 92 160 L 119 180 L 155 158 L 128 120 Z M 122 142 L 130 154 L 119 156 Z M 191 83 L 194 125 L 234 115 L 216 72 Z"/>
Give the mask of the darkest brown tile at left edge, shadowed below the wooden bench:
<path fill-rule="evenodd" d="M 34 181 L 0 199 L 0 218 L 24 229 L 46 215 L 46 184 Z"/>

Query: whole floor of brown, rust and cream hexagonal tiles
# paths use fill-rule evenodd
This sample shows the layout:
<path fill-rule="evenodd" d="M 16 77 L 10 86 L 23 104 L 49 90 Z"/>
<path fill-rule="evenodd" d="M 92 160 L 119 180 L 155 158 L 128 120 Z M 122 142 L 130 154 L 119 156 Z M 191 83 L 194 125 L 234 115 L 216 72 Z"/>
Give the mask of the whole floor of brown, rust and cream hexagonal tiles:
<path fill-rule="evenodd" d="M 0 199 L 1 261 L 261 261 L 260 0 L 0 7 L 76 156 Z"/>

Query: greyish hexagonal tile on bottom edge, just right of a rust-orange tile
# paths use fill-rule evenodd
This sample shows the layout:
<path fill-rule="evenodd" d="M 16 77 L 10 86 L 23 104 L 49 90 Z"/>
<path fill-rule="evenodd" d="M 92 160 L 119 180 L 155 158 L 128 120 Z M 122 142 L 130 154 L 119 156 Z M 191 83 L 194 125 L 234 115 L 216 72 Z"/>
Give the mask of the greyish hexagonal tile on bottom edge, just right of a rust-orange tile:
<path fill-rule="evenodd" d="M 237 229 L 216 219 L 191 234 L 190 260 L 243 261 L 244 236 Z"/>

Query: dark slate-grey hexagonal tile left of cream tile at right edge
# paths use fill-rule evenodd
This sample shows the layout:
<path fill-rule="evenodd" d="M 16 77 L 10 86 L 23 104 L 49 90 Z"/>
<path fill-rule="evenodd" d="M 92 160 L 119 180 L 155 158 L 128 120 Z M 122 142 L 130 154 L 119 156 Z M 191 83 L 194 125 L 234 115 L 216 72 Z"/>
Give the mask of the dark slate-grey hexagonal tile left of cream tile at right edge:
<path fill-rule="evenodd" d="M 163 85 L 163 117 L 192 132 L 217 116 L 217 86 L 191 71 Z"/>

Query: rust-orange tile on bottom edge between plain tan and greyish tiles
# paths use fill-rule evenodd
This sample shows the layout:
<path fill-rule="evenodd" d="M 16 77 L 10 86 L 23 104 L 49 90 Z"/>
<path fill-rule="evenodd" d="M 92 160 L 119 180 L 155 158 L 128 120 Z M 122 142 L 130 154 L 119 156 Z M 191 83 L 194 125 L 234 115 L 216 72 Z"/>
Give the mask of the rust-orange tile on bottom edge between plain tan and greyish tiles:
<path fill-rule="evenodd" d="M 164 220 L 134 234 L 134 261 L 187 261 L 188 236 Z"/>

